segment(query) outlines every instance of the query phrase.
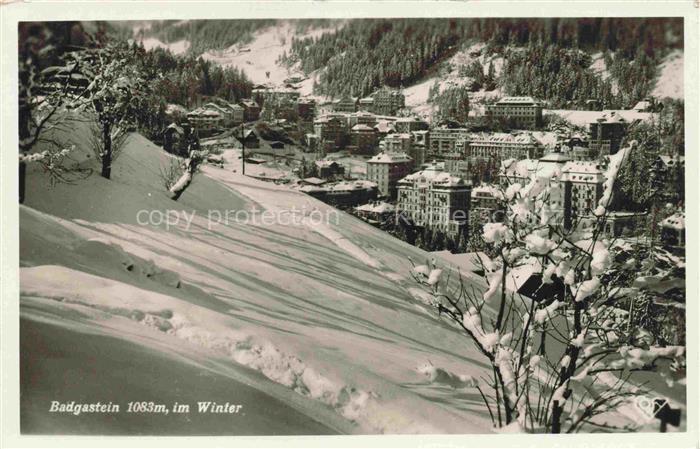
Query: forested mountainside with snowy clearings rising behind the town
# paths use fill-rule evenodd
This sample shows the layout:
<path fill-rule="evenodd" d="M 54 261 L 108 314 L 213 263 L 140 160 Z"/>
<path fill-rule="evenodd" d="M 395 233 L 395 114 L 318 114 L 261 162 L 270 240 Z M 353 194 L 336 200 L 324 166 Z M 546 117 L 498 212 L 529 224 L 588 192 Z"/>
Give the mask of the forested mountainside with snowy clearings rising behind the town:
<path fill-rule="evenodd" d="M 157 46 L 150 57 L 167 69 L 161 88 L 168 101 L 188 105 L 197 94 L 232 100 L 246 95 L 252 83 L 245 72 L 252 66 L 199 56 L 237 46 L 235 51 L 250 51 L 249 59 L 257 61 L 261 55 L 254 53 L 265 49 L 245 46 L 273 32 L 266 30 L 276 23 L 159 21 L 132 24 L 132 29 L 137 41 L 149 36 L 166 47 L 186 43 L 186 53 L 179 59 Z M 434 86 L 428 102 L 461 104 L 468 92 L 482 91 L 498 96 L 531 95 L 555 109 L 588 109 L 588 100 L 596 100 L 602 108 L 627 108 L 659 90 L 660 67 L 668 57 L 681 52 L 682 61 L 683 24 L 677 18 L 314 19 L 290 23 L 297 30 L 291 42 L 288 36 L 275 38 L 288 39 L 279 67 L 265 70 L 313 74 L 313 93 L 331 97 L 365 96 L 384 85 L 409 87 L 440 78 L 439 73 L 447 69 L 458 82 L 442 89 Z M 304 33 L 314 27 L 334 31 Z M 122 32 L 123 23 L 114 29 Z M 459 53 L 466 57 L 454 58 Z M 495 60 L 501 61 L 497 70 Z M 193 68 L 196 76 L 192 76 Z"/>

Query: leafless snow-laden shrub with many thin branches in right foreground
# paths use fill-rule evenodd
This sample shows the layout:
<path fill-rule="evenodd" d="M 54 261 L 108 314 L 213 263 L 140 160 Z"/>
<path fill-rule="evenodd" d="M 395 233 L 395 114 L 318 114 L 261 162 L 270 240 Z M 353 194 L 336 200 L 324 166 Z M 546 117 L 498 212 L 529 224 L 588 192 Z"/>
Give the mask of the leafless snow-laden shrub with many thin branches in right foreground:
<path fill-rule="evenodd" d="M 609 427 L 602 415 L 643 394 L 638 372 L 667 383 L 684 373 L 685 348 L 659 344 L 617 303 L 630 285 L 615 272 L 617 247 L 603 230 L 618 171 L 635 144 L 609 156 L 602 198 L 573 226 L 564 225 L 555 180 L 510 184 L 505 221 L 483 227 L 497 254 L 481 261 L 483 295 L 461 276 L 457 286 L 450 283 L 434 262 L 413 268 L 438 313 L 489 361 L 491 392 L 479 391 L 496 427 Z"/>

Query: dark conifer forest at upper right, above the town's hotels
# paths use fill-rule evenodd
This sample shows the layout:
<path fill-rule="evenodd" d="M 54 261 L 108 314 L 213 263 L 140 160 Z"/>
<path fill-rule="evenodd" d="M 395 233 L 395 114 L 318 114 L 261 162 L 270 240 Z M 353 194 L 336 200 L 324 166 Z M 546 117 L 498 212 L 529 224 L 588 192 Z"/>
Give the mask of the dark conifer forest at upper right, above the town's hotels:
<path fill-rule="evenodd" d="M 416 81 L 458 46 L 475 40 L 488 44 L 487 54 L 512 58 L 501 81 L 507 93 L 578 105 L 580 98 L 611 93 L 611 83 L 601 81 L 586 65 L 590 58 L 576 50 L 600 51 L 619 80 L 615 101 L 628 102 L 648 94 L 656 64 L 670 49 L 683 47 L 682 35 L 682 21 L 675 18 L 355 20 L 336 33 L 295 39 L 286 60 L 300 61 L 307 73 L 325 68 L 318 93 L 367 95 L 382 85 Z M 516 47 L 527 50 L 515 53 Z M 544 71 L 552 67 L 568 73 L 546 79 Z M 560 82 L 562 87 L 545 88 Z"/>

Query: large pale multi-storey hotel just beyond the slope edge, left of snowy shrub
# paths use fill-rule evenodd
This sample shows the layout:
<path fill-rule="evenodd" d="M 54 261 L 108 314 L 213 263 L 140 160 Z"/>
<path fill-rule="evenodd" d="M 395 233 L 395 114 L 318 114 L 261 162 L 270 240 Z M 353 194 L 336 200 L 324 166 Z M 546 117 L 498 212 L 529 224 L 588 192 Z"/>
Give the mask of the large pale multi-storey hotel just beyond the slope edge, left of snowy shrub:
<path fill-rule="evenodd" d="M 438 165 L 406 176 L 397 189 L 399 213 L 417 226 L 457 234 L 468 222 L 470 184 Z"/>

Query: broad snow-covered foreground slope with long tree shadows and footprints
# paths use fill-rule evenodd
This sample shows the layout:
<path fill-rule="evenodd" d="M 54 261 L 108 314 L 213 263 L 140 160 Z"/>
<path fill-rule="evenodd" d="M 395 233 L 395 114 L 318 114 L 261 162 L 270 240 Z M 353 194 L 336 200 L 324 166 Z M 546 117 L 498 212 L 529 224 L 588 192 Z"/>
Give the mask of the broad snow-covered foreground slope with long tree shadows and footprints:
<path fill-rule="evenodd" d="M 82 140 L 80 128 L 72 135 Z M 455 391 L 417 370 L 428 361 L 457 374 L 486 370 L 471 343 L 421 303 L 408 258 L 427 253 L 240 175 L 236 156 L 226 152 L 223 169 L 205 167 L 177 203 L 160 185 L 169 156 L 138 134 L 111 180 L 94 174 L 50 187 L 30 172 L 20 210 L 22 329 L 53 356 L 30 343 L 23 351 L 34 370 L 23 387 L 25 430 L 75 426 L 36 404 L 77 391 L 83 401 L 244 398 L 250 425 L 230 433 L 489 432 L 474 389 Z M 139 224 L 168 211 L 178 223 Z M 326 213 L 329 224 L 317 225 Z M 59 388 L 56 372 L 80 385 Z M 164 377 L 152 386 L 153 376 Z M 289 419 L 275 425 L 271 409 Z M 96 421 L 92 431 L 162 431 L 161 421 L 127 419 Z M 177 422 L 183 433 L 208 432 L 206 420 Z"/>

